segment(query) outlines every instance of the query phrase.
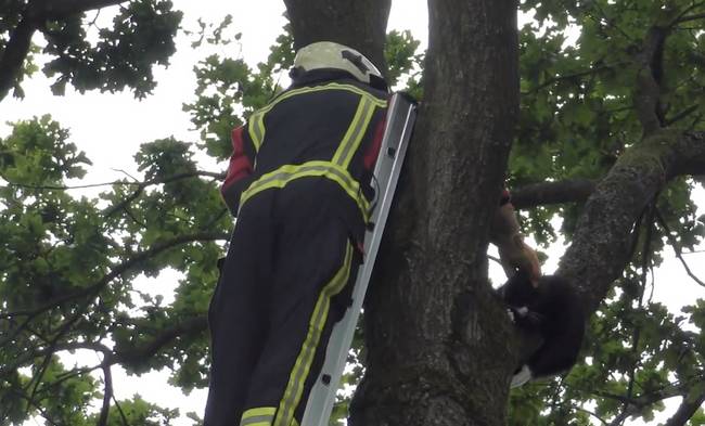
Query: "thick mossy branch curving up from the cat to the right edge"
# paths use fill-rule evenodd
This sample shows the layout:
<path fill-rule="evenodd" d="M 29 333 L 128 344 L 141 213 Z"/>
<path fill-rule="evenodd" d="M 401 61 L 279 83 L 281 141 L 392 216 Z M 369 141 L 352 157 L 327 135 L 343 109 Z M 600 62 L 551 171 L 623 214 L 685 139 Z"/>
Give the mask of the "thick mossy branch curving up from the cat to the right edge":
<path fill-rule="evenodd" d="M 595 186 L 559 274 L 572 280 L 594 312 L 629 261 L 634 218 L 676 176 L 705 168 L 705 132 L 662 130 L 625 152 Z"/>

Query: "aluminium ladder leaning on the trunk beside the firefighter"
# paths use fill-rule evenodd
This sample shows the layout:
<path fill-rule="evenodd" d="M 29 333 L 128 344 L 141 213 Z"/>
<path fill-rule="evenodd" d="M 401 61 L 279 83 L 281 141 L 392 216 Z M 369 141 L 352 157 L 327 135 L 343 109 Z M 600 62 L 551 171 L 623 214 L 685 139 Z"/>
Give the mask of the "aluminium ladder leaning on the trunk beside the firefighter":
<path fill-rule="evenodd" d="M 329 424 L 415 117 L 415 101 L 408 94 L 394 93 L 389 100 L 387 126 L 374 167 L 374 179 L 379 184 L 380 195 L 370 219 L 373 228 L 364 235 L 364 262 L 360 266 L 355 282 L 352 304 L 333 328 L 325 352 L 325 362 L 308 398 L 302 426 L 328 426 Z"/>

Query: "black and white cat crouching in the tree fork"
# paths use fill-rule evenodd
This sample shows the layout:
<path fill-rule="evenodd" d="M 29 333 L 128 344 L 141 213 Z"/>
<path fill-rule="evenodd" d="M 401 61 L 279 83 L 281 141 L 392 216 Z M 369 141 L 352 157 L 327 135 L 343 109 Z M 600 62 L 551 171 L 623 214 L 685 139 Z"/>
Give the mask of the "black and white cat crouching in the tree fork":
<path fill-rule="evenodd" d="M 498 293 L 516 326 L 538 332 L 542 339 L 538 349 L 522 361 L 512 387 L 571 370 L 582 344 L 586 321 L 575 287 L 556 275 L 541 276 L 535 287 L 528 273 L 520 270 Z"/>

